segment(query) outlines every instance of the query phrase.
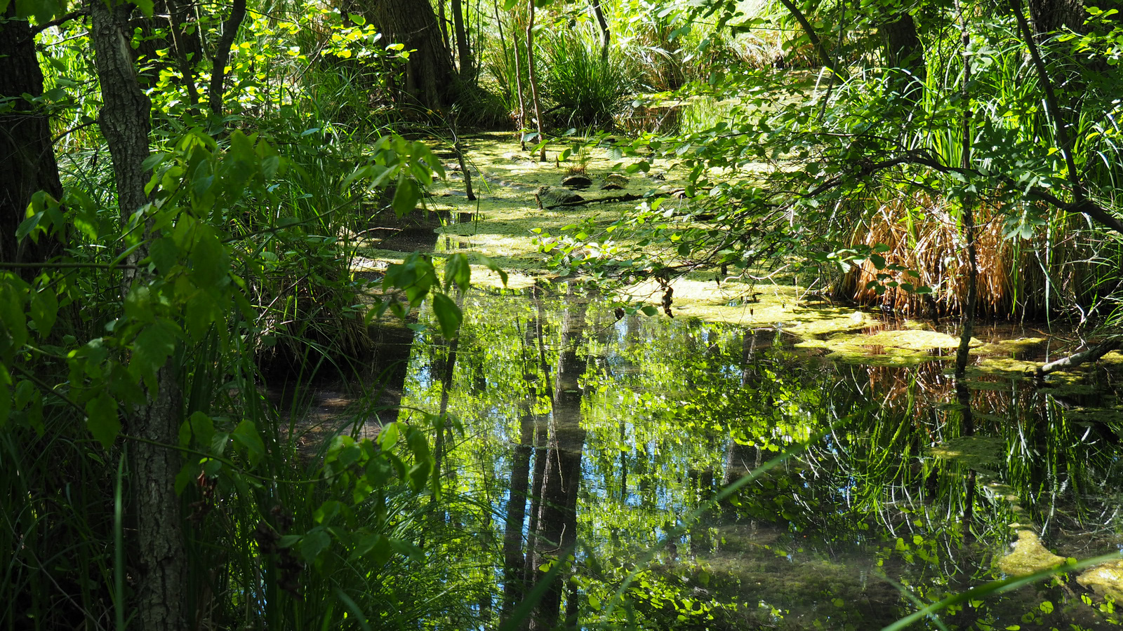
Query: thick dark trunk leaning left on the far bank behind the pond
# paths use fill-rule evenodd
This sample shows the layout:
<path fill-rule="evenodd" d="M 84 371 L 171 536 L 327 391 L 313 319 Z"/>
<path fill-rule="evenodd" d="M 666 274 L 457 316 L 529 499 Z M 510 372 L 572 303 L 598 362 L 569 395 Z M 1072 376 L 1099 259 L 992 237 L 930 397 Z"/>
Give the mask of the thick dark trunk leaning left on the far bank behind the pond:
<path fill-rule="evenodd" d="M 451 106 L 459 82 L 429 1 L 368 1 L 365 12 L 367 20 L 386 36 L 387 43 L 402 44 L 407 51 L 413 51 L 405 63 L 401 91 L 426 109 Z"/>

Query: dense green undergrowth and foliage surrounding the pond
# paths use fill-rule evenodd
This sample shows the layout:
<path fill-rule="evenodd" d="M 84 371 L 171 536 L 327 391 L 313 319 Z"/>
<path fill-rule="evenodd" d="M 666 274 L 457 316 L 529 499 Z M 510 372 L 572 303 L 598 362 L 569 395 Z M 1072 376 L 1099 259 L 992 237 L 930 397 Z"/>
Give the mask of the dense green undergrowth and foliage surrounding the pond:
<path fill-rule="evenodd" d="M 887 64 L 877 11 L 844 4 L 746 16 L 597 3 L 602 27 L 584 7 L 546 2 L 528 31 L 528 6 L 457 2 L 467 27 L 432 30 L 456 62 L 441 77 L 456 98 L 427 101 L 410 75 L 424 53 L 384 36 L 376 20 L 389 18 L 371 7 L 253 4 L 234 21 L 238 2 L 230 15 L 141 2 L 112 24 L 135 71 L 120 81 L 147 100 L 134 116 L 152 129 L 146 159 L 128 163 L 109 147 L 107 112 L 121 106 L 90 52 L 97 11 L 4 6 L 0 38 L 33 46 L 43 73 L 38 89 L 0 94 L 4 132 L 46 118 L 49 134 L 0 158 L 54 153 L 63 191 L 3 207 L 22 244 L 0 253 L 8 628 L 140 628 L 164 611 L 138 604 L 157 588 L 182 605 L 165 611 L 177 612 L 168 629 L 476 625 L 494 577 L 460 574 L 455 514 L 485 509 L 433 475 L 455 419 L 368 422 L 396 410 L 384 402 L 320 431 L 308 420 L 309 383 L 367 360 L 372 322 L 418 329 L 428 302 L 454 340 L 469 263 L 497 271 L 403 253 L 374 280 L 354 273 L 387 228 L 372 209 L 405 217 L 447 167 L 473 171 L 460 141 L 473 127 L 509 128 L 512 150 L 545 144 L 559 170 L 583 166 L 582 138 L 629 174 L 657 158 L 686 174 L 675 203 L 650 195 L 546 248 L 566 274 L 656 283 L 668 312 L 676 275 L 789 266 L 849 299 L 953 313 L 970 244 L 987 316 L 1092 330 L 1123 313 L 1120 236 L 1088 212 L 1114 217 L 1123 162 L 1115 27 L 1102 12 L 1042 40 L 1041 72 L 1012 13 L 974 6 L 904 13 L 922 46 Z M 1061 111 L 1041 106 L 1047 86 Z M 145 202 L 119 209 L 130 171 Z M 45 255 L 21 258 L 33 250 Z M 168 440 L 147 433 L 153 419 Z M 179 466 L 140 479 L 153 450 Z M 179 513 L 154 527 L 138 497 L 161 485 Z M 168 533 L 166 558 L 140 534 L 153 528 Z M 175 585 L 149 580 L 162 564 Z"/>

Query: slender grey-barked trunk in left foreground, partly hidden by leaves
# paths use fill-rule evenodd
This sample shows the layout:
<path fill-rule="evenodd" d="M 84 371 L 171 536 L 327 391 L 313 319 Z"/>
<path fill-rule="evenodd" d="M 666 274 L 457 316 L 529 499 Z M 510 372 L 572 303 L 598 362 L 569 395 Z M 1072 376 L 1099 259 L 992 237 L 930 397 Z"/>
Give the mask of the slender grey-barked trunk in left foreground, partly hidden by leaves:
<path fill-rule="evenodd" d="M 143 163 L 149 153 L 152 103 L 137 83 L 133 65 L 125 30 L 128 4 L 110 8 L 101 0 L 91 0 L 89 7 L 90 39 L 103 103 L 99 122 L 112 157 L 117 201 L 125 221 L 148 202 Z M 129 262 L 143 256 L 137 252 Z M 126 291 L 143 280 L 127 277 Z M 139 551 L 136 606 L 140 629 L 179 631 L 185 628 L 186 587 L 180 499 L 175 494 L 180 458 L 174 448 L 154 445 L 179 441 L 180 393 L 171 364 L 158 371 L 156 383 L 156 390 L 147 393 L 147 403 L 128 415 L 125 428 L 141 439 L 129 450 Z"/>

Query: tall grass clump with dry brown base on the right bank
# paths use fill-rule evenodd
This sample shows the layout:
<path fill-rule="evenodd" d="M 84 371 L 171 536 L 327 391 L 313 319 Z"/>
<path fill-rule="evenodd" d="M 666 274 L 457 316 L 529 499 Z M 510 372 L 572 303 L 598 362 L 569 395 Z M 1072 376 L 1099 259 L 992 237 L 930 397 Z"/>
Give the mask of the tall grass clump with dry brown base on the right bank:
<path fill-rule="evenodd" d="M 977 37 L 984 43 L 977 44 L 980 52 L 973 62 L 973 134 L 983 138 L 985 130 L 986 144 L 976 148 L 975 165 L 997 174 L 1029 171 L 1052 176 L 1060 170 L 1059 155 L 1051 150 L 1058 146 L 1056 127 L 1038 107 L 1041 86 L 1029 67 L 1022 42 L 1002 21 L 980 24 L 979 29 Z M 937 156 L 944 165 L 958 165 L 964 141 L 955 115 L 949 113 L 958 107 L 949 99 L 959 92 L 959 61 L 938 51 L 930 48 L 924 98 L 912 113 L 914 125 L 903 127 L 894 143 L 902 149 Z M 1083 72 L 1062 61 L 1057 64 L 1053 72 L 1058 76 Z M 839 98 L 866 101 L 869 107 L 876 107 L 875 99 L 888 98 L 887 93 L 861 94 L 861 85 L 868 90 L 868 83 L 859 81 L 839 85 Z M 1078 111 L 1104 111 L 1080 108 L 1081 102 L 1103 99 L 1094 91 L 1067 98 Z M 1081 113 L 1078 121 L 1084 134 L 1075 147 L 1076 162 L 1092 190 L 1111 190 L 1123 164 L 1113 140 L 1117 134 L 1108 132 L 1112 120 L 1093 120 Z M 949 188 L 953 185 L 949 183 Z M 980 225 L 980 311 L 989 317 L 1035 318 L 1068 309 L 1080 321 L 1104 317 L 1110 310 L 1101 304 L 1108 293 L 1105 290 L 1119 286 L 1121 278 L 1119 239 L 1094 230 L 1081 216 L 1019 200 L 1002 186 L 990 186 L 978 191 L 974 201 Z M 893 281 L 928 285 L 941 312 L 958 312 L 966 292 L 960 202 L 950 194 L 916 189 L 902 192 L 905 190 L 900 182 L 886 180 L 865 196 L 849 200 L 850 205 L 864 207 L 859 220 L 851 223 L 851 243 L 887 245 L 888 263 L 920 274 L 919 278 L 891 275 Z M 837 287 L 861 303 L 926 312 L 921 296 L 876 286 L 888 280 L 878 280 L 879 272 L 866 262 L 844 275 Z"/>

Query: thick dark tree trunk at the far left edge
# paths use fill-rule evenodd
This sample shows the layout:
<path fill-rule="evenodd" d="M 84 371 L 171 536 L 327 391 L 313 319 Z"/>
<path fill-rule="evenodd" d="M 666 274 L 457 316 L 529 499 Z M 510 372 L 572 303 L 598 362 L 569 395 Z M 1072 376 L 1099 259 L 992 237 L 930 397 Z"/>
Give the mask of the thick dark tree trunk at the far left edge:
<path fill-rule="evenodd" d="M 38 244 L 16 241 L 27 204 L 36 191 L 56 200 L 63 195 L 58 166 L 51 143 L 47 116 L 20 98 L 43 94 L 43 72 L 35 56 L 35 37 L 27 20 L 16 18 L 16 3 L 8 4 L 0 21 L 0 99 L 13 98 L 13 108 L 0 113 L 0 260 L 42 263 L 58 252 L 58 243 L 40 238 Z"/>

